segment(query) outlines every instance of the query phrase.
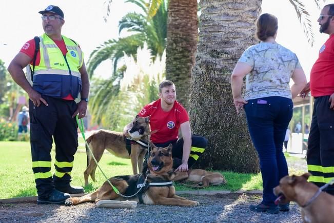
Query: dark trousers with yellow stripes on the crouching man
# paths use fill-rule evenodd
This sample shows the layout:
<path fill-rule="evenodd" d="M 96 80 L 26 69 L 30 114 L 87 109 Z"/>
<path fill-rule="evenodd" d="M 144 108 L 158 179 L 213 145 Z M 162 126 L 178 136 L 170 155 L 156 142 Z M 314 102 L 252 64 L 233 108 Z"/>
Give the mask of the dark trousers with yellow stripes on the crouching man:
<path fill-rule="evenodd" d="M 177 157 L 182 159 L 183 155 L 183 138 L 179 140 L 169 141 L 164 144 L 155 144 L 158 147 L 167 147 L 169 144 L 173 145 L 172 148 L 172 157 Z M 203 154 L 205 148 L 208 144 L 208 141 L 203 136 L 199 135 L 191 135 L 191 148 L 190 148 L 190 155 L 188 159 L 188 168 L 190 168 L 196 160 Z"/>

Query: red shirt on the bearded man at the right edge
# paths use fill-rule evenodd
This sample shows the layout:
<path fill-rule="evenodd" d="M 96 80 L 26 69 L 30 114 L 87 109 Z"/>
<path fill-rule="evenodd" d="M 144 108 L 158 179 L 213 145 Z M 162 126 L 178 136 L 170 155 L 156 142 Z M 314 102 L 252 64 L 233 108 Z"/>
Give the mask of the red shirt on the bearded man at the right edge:
<path fill-rule="evenodd" d="M 326 96 L 334 93 L 334 34 L 319 50 L 319 58 L 310 74 L 312 96 Z"/>

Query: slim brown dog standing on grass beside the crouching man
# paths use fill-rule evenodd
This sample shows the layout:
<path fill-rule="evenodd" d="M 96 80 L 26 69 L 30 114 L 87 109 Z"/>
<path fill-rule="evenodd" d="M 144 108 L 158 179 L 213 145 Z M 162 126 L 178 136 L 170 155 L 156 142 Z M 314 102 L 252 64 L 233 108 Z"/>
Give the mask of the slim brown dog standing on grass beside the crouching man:
<path fill-rule="evenodd" d="M 133 119 L 133 127 L 129 130 L 130 134 L 137 132 L 136 136 L 133 136 L 132 139 L 135 141 L 141 140 L 143 142 L 148 141 L 148 136 L 150 134 L 149 126 L 149 116 L 140 117 L 137 115 Z M 93 155 L 97 162 L 100 161 L 104 150 L 109 151 L 111 154 L 121 157 L 121 158 L 131 158 L 132 172 L 137 174 L 137 166 L 139 172 L 143 171 L 143 162 L 144 156 L 147 152 L 147 147 L 144 147 L 141 144 L 131 144 L 131 151 L 126 148 L 125 136 L 122 132 L 114 132 L 109 130 L 99 130 L 93 133 L 87 138 L 87 143 L 90 149 L 93 152 Z M 88 177 L 91 176 L 92 180 L 95 181 L 95 170 L 97 165 L 95 164 L 94 159 L 92 158 L 87 146 L 87 169 L 84 172 L 85 185 L 88 185 Z"/>

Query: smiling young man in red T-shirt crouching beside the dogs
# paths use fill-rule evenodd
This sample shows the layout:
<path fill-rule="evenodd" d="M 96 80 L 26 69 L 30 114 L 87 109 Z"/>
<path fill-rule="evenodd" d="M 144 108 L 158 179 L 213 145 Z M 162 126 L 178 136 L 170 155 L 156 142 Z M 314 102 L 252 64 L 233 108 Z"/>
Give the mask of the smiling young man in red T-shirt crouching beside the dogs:
<path fill-rule="evenodd" d="M 191 135 L 189 116 L 186 109 L 176 102 L 175 85 L 170 80 L 164 80 L 159 85 L 160 99 L 144 106 L 139 116 L 150 116 L 151 141 L 157 147 L 173 145 L 173 168 L 175 171 L 186 172 L 188 168 L 204 152 L 207 140 L 198 135 Z M 133 124 L 124 127 L 123 133 L 129 136 L 128 130 Z M 178 137 L 179 129 L 182 138 Z M 146 158 L 146 157 L 145 157 Z"/>

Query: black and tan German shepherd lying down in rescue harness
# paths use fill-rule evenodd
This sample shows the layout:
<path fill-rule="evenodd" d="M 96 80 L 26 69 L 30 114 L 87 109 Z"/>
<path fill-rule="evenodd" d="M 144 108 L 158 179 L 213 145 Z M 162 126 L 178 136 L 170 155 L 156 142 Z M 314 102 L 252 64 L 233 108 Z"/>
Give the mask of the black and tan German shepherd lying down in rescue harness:
<path fill-rule="evenodd" d="M 173 172 L 172 145 L 167 148 L 158 148 L 154 144 L 151 145 L 151 155 L 148 159 L 148 171 L 143 172 L 143 178 L 147 177 L 146 185 L 154 182 L 171 181 L 175 177 Z M 145 169 L 145 168 L 144 168 Z M 109 180 L 119 192 L 123 195 L 133 195 L 138 190 L 137 181 L 140 175 L 115 176 Z M 144 188 L 143 188 L 144 189 Z M 142 190 L 143 190 L 142 189 Z M 188 200 L 186 198 L 175 195 L 175 188 L 172 185 L 151 187 L 142 191 L 139 196 L 131 198 L 123 198 L 117 195 L 106 181 L 101 188 L 95 192 L 87 194 L 83 197 L 71 197 L 65 201 L 66 206 L 77 205 L 83 202 L 97 202 L 99 200 L 136 200 L 141 201 L 145 205 L 176 205 L 176 206 L 198 206 L 199 202 Z"/>

